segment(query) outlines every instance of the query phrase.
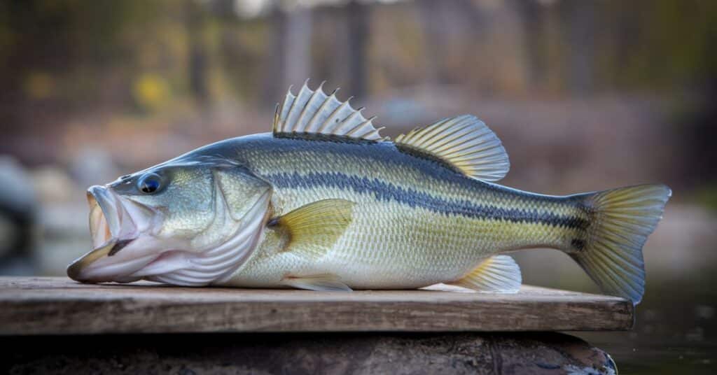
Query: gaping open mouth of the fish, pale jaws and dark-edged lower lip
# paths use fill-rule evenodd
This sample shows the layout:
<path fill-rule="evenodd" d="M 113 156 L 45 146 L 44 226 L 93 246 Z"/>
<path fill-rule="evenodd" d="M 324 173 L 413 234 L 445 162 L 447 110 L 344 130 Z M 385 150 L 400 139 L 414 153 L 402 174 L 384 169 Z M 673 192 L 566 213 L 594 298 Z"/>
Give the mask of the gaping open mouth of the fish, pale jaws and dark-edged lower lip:
<path fill-rule="evenodd" d="M 67 267 L 67 275 L 83 283 L 116 281 L 118 275 L 111 271 L 132 266 L 128 263 L 133 262 L 120 260 L 113 267 L 101 267 L 101 260 L 113 257 L 133 242 L 137 235 L 135 222 L 115 194 L 104 186 L 92 186 L 87 190 L 87 204 L 90 205 L 92 251 L 72 262 Z M 125 267 L 118 267 L 120 265 Z"/>

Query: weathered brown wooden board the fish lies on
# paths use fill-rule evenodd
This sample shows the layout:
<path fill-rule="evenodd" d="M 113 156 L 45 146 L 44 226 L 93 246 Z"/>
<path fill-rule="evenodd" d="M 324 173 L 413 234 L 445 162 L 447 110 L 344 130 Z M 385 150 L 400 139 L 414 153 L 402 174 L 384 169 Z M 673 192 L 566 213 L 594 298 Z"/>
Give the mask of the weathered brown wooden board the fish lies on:
<path fill-rule="evenodd" d="M 617 297 L 523 286 L 520 293 L 432 290 L 313 292 L 88 285 L 0 277 L 0 334 L 339 331 L 617 331 Z"/>

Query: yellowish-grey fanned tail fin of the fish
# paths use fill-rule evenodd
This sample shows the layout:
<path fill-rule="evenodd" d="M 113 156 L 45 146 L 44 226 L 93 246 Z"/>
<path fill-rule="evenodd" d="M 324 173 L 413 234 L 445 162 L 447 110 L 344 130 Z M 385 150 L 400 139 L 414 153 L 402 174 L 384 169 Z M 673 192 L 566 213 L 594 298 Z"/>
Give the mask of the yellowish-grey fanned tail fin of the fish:
<path fill-rule="evenodd" d="M 584 195 L 590 225 L 580 250 L 570 253 L 605 293 L 640 303 L 645 293 L 642 245 L 672 195 L 665 185 L 638 185 Z"/>

